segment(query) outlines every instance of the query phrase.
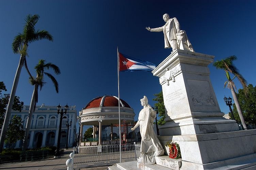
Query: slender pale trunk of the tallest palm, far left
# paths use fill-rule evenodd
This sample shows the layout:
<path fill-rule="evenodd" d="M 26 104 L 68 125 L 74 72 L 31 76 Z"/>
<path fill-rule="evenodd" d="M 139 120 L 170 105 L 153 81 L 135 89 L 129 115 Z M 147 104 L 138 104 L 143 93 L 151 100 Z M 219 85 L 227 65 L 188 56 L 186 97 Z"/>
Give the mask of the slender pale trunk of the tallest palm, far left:
<path fill-rule="evenodd" d="M 23 61 L 24 61 L 24 56 L 20 55 L 19 65 L 18 65 L 16 74 L 15 74 L 15 77 L 14 77 L 13 87 L 12 87 L 12 91 L 11 91 L 11 94 L 10 94 L 9 103 L 7 105 L 7 108 L 6 108 L 5 118 L 4 118 L 3 127 L 2 127 L 2 131 L 1 131 L 0 152 L 2 152 L 2 150 L 3 150 L 5 134 L 7 132 L 8 123 L 9 123 L 11 112 L 12 112 L 14 96 L 16 94 L 16 89 L 17 89 L 17 86 L 18 86 L 19 76 L 20 76 L 20 73 L 21 73 L 21 68 L 22 68 Z"/>

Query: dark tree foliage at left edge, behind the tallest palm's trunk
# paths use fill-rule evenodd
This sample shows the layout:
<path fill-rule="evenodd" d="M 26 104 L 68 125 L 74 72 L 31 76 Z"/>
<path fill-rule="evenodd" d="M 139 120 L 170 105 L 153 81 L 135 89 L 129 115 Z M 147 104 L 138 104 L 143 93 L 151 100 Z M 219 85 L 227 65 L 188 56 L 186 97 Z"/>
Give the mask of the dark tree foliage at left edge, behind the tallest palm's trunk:
<path fill-rule="evenodd" d="M 5 85 L 3 82 L 0 82 L 0 126 L 2 126 L 3 121 L 4 121 L 4 114 L 6 112 L 6 106 L 8 104 L 10 94 L 4 94 L 2 95 L 2 91 L 7 91 Z M 19 101 L 19 97 L 15 96 L 14 97 L 14 102 L 13 102 L 13 110 L 15 111 L 20 111 L 23 108 L 23 102 Z"/>

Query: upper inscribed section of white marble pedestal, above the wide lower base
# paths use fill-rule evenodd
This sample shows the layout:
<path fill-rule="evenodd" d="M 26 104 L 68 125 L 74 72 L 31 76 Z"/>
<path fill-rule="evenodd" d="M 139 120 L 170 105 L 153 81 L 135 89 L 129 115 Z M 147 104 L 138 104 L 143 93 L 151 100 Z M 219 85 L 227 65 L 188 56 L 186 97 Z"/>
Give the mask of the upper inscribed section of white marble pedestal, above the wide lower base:
<path fill-rule="evenodd" d="M 207 67 L 214 56 L 175 50 L 155 70 L 166 108 L 161 135 L 192 135 L 238 131 L 235 120 L 225 119 Z"/>

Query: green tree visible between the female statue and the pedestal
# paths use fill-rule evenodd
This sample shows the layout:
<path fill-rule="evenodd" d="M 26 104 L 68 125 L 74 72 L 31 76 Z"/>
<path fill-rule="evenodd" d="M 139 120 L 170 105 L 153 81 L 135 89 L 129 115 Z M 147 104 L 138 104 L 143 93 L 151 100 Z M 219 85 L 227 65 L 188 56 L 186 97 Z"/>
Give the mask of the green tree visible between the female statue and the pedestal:
<path fill-rule="evenodd" d="M 158 116 L 160 119 L 158 120 L 158 125 L 164 125 L 165 124 L 165 107 L 163 103 L 163 91 L 154 94 L 156 98 L 153 99 L 153 101 L 158 101 L 158 103 L 155 103 L 155 107 L 158 108 Z"/>

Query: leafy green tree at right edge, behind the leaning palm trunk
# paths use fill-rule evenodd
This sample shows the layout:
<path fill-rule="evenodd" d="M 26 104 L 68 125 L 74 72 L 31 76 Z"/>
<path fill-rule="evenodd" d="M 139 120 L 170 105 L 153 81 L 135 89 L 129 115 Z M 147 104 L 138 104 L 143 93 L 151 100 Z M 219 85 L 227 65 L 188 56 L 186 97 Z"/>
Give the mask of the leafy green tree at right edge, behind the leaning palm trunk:
<path fill-rule="evenodd" d="M 252 84 L 249 84 L 247 86 L 247 95 L 244 94 L 244 89 L 239 89 L 237 98 L 243 111 L 245 122 L 256 125 L 256 86 L 253 87 Z M 233 105 L 233 113 L 237 122 L 241 123 L 236 105 Z"/>

